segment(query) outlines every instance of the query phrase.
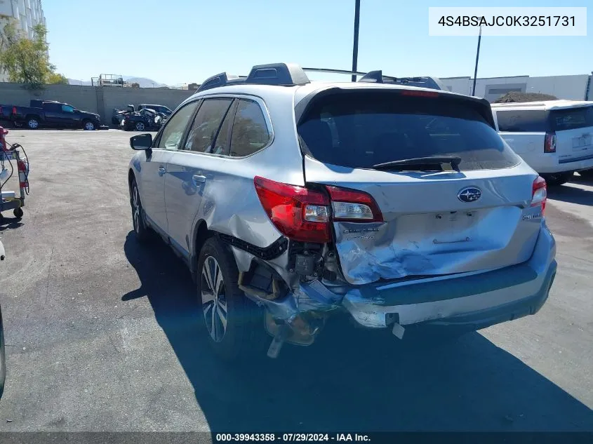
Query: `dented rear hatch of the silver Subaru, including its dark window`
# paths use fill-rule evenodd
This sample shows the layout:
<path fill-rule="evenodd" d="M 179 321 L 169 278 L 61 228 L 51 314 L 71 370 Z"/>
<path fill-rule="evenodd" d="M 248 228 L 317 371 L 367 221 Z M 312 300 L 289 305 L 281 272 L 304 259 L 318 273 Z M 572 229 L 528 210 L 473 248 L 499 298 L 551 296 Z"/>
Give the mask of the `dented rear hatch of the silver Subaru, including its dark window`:
<path fill-rule="evenodd" d="M 487 102 L 334 88 L 299 117 L 305 180 L 330 191 L 349 283 L 498 269 L 531 257 L 542 217 L 542 206 L 532 206 L 538 175 L 496 133 Z M 339 201 L 366 202 L 369 211 Z"/>

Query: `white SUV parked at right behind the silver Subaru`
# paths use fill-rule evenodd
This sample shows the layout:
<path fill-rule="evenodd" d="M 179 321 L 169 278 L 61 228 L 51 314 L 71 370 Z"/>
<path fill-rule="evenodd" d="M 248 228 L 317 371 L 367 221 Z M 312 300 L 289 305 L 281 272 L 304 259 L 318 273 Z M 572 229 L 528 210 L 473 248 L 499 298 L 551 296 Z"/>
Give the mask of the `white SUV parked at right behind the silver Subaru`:
<path fill-rule="evenodd" d="M 493 103 L 496 129 L 550 185 L 593 177 L 593 102 Z"/>

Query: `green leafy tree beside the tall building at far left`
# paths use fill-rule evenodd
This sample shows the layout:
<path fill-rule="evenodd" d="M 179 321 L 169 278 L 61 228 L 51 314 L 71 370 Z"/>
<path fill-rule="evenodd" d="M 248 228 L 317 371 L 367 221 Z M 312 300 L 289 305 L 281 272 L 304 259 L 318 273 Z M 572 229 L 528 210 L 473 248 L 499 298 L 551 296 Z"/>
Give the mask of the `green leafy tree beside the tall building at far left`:
<path fill-rule="evenodd" d="M 41 88 L 44 83 L 67 83 L 61 74 L 55 74 L 55 66 L 48 58 L 47 30 L 44 25 L 33 27 L 33 38 L 27 39 L 11 20 L 4 27 L 0 40 L 0 67 L 8 74 L 8 80 L 25 83 L 29 88 Z"/>

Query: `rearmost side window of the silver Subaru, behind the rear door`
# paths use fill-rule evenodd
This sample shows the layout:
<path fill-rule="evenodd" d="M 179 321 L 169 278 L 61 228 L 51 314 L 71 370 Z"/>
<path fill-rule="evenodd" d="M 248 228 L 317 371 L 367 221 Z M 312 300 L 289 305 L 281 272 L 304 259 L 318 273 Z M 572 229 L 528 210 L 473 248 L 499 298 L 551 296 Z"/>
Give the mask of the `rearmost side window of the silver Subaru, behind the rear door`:
<path fill-rule="evenodd" d="M 264 148 L 270 139 L 262 108 L 253 100 L 241 99 L 231 135 L 231 156 L 243 157 Z"/>

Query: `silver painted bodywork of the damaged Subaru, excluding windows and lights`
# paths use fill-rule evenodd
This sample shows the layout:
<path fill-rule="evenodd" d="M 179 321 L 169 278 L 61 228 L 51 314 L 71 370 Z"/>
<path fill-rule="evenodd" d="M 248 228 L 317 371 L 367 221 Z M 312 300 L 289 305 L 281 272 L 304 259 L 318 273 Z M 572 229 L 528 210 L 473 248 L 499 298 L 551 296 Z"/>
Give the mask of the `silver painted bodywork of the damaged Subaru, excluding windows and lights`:
<path fill-rule="evenodd" d="M 312 93 L 334 87 L 417 89 L 360 83 L 289 87 L 239 84 L 197 93 L 180 107 L 208 97 L 257 101 L 271 140 L 264 149 L 243 158 L 182 149 L 135 154 L 130 170 L 138 182 L 147 223 L 192 267 L 199 255 L 196 231 L 203 224 L 214 233 L 258 248 L 283 237 L 262 208 L 253 184 L 255 176 L 301 187 L 310 182 L 339 185 L 371 194 L 385 222 L 333 224 L 338 255 L 335 281 L 321 277 L 300 280 L 289 269 L 288 251 L 264 261 L 229 246 L 239 271 L 246 272 L 254 262 L 263 262 L 286 284 L 288 293 L 276 300 L 247 295 L 274 318 L 290 321 L 307 311 L 346 309 L 361 325 L 385 327 L 386 314 L 399 314 L 399 322 L 409 324 L 497 307 L 531 297 L 541 288 L 547 297 L 550 270 L 555 270 L 555 247 L 540 208 L 531 207 L 531 184 L 537 173 L 524 162 L 502 170 L 462 173 L 390 173 L 325 165 L 302 154 L 294 109 Z M 159 175 L 163 167 L 164 174 Z M 197 182 L 196 176 L 200 178 Z M 458 199 L 459 191 L 469 186 L 481 189 L 479 201 Z M 385 308 L 375 304 L 381 290 L 373 290 L 378 300 L 368 297 L 368 291 L 361 296 L 362 288 L 368 290 L 368 285 L 380 280 L 397 282 L 406 276 L 422 276 L 459 282 L 476 273 L 524 263 L 535 270 L 528 283 L 488 292 L 477 290 L 475 295 L 442 303 Z M 414 285 L 421 282 L 401 285 L 413 295 Z"/>

